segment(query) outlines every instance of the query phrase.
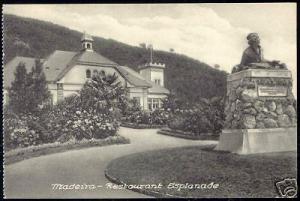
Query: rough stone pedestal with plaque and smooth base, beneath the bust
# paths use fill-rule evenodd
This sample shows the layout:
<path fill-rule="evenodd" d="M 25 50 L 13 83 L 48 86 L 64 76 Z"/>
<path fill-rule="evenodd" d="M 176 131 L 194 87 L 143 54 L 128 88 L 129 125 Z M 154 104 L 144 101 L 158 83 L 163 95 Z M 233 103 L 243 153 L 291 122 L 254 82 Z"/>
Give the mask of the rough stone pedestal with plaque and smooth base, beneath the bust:
<path fill-rule="evenodd" d="M 278 61 L 254 61 L 242 59 L 227 77 L 226 120 L 216 150 L 238 154 L 297 150 L 291 71 Z"/>

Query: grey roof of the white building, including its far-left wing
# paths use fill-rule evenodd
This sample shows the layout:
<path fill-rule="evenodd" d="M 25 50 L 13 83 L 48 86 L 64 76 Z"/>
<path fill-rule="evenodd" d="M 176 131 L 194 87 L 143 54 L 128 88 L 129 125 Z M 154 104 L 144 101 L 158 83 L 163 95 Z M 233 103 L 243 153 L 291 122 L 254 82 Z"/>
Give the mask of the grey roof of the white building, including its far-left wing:
<path fill-rule="evenodd" d="M 10 87 L 14 80 L 14 72 L 20 62 L 25 63 L 27 72 L 35 65 L 35 58 L 15 57 L 4 67 L 4 87 Z M 168 94 L 169 90 L 147 81 L 139 73 L 126 66 L 119 66 L 115 62 L 101 56 L 92 51 L 70 52 L 70 51 L 54 51 L 43 63 L 43 68 L 48 82 L 58 81 L 62 78 L 74 65 L 101 65 L 111 66 L 115 68 L 124 79 L 135 87 L 149 88 L 150 93 Z"/>

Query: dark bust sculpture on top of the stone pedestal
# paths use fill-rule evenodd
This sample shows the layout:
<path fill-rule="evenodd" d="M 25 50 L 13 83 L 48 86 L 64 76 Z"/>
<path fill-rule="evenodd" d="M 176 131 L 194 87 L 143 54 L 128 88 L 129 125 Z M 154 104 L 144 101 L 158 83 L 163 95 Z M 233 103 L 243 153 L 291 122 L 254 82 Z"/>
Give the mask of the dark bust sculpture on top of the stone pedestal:
<path fill-rule="evenodd" d="M 263 50 L 260 46 L 260 38 L 257 33 L 250 33 L 247 36 L 249 47 L 243 52 L 242 60 L 239 65 L 232 69 L 232 73 L 246 69 L 287 69 L 284 63 L 273 60 L 268 61 L 263 57 Z"/>

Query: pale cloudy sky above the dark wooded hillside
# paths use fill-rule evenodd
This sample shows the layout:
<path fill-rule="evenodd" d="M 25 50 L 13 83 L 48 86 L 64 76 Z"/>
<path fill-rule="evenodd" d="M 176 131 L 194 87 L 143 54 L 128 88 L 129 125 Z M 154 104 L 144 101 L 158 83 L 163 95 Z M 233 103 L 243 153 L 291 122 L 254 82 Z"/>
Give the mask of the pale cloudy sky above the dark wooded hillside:
<path fill-rule="evenodd" d="M 230 72 L 257 32 L 266 59 L 293 72 L 296 96 L 296 3 L 4 5 L 3 12 L 66 26 L 130 45 L 182 53 Z"/>

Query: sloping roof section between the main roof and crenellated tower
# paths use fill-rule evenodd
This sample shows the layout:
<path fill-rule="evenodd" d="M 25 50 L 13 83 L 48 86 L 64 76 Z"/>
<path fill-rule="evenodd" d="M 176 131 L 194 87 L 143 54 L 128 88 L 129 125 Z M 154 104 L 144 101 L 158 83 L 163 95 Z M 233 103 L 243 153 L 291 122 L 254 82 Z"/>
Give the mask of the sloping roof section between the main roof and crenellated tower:
<path fill-rule="evenodd" d="M 133 86 L 136 86 L 136 87 L 151 87 L 151 84 L 148 83 L 145 80 L 145 78 L 143 78 L 139 73 L 135 72 L 131 68 L 128 68 L 126 66 L 116 66 L 116 69 Z"/>

